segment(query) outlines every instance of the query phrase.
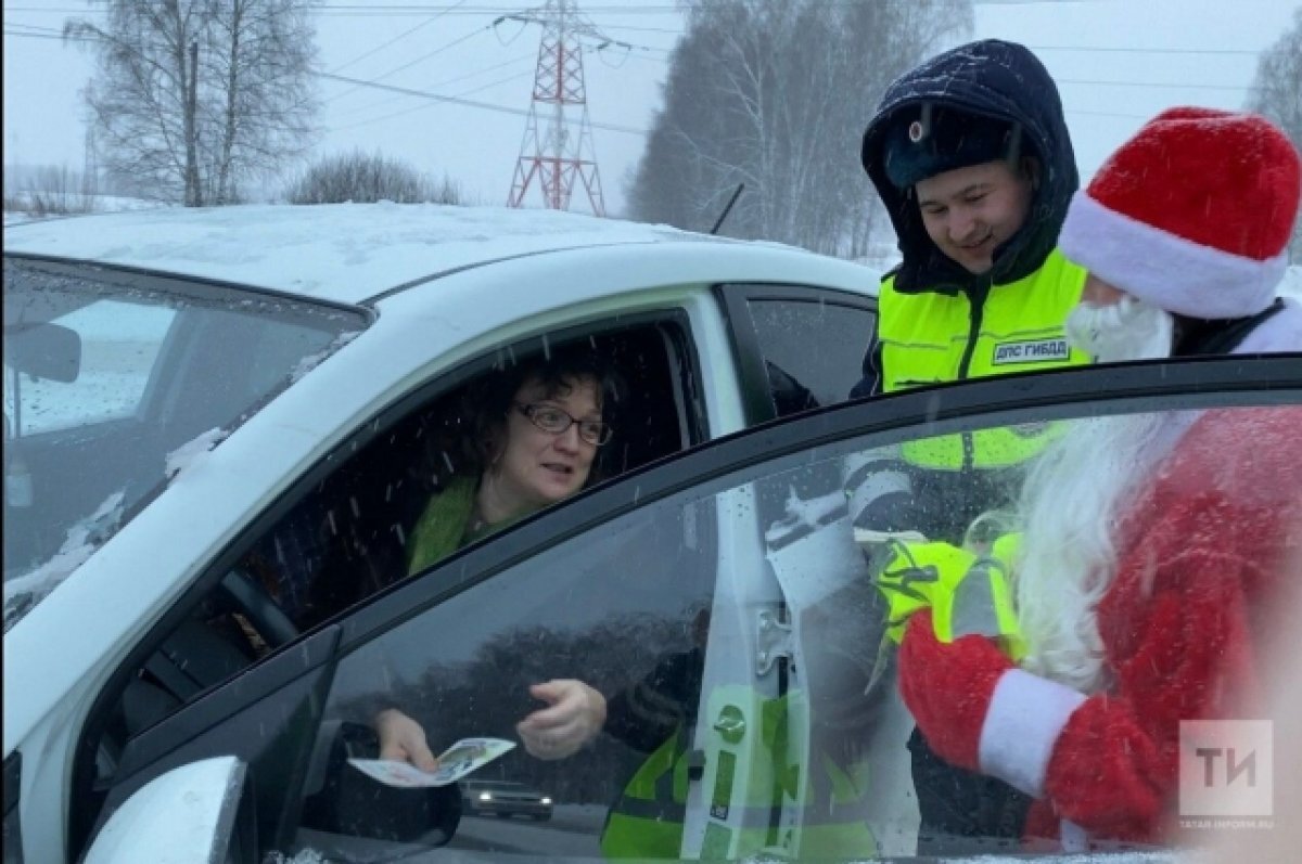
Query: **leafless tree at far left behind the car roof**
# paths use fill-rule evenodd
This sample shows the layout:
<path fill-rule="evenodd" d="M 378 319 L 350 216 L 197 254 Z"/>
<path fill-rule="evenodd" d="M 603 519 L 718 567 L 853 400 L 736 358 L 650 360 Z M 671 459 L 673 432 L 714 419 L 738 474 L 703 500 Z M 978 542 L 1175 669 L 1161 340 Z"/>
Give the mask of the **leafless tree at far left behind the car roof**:
<path fill-rule="evenodd" d="M 225 204 L 311 143 L 312 0 L 103 1 L 103 25 L 64 33 L 99 55 L 85 95 L 111 176 L 187 207 Z"/>

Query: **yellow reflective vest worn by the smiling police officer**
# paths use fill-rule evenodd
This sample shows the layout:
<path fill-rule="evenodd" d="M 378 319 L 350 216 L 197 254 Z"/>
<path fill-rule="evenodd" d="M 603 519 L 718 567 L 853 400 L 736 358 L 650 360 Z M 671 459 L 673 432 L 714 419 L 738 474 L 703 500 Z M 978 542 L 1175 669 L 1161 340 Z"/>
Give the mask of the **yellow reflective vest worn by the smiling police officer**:
<path fill-rule="evenodd" d="M 1055 249 L 1039 269 L 991 286 L 976 306 L 962 291 L 904 294 L 894 290 L 894 277 L 884 280 L 878 301 L 881 392 L 1088 363 L 1064 329 L 1085 277 Z M 902 455 L 927 468 L 1001 468 L 1035 455 L 1052 435 L 1047 423 L 980 429 L 910 441 Z"/>

